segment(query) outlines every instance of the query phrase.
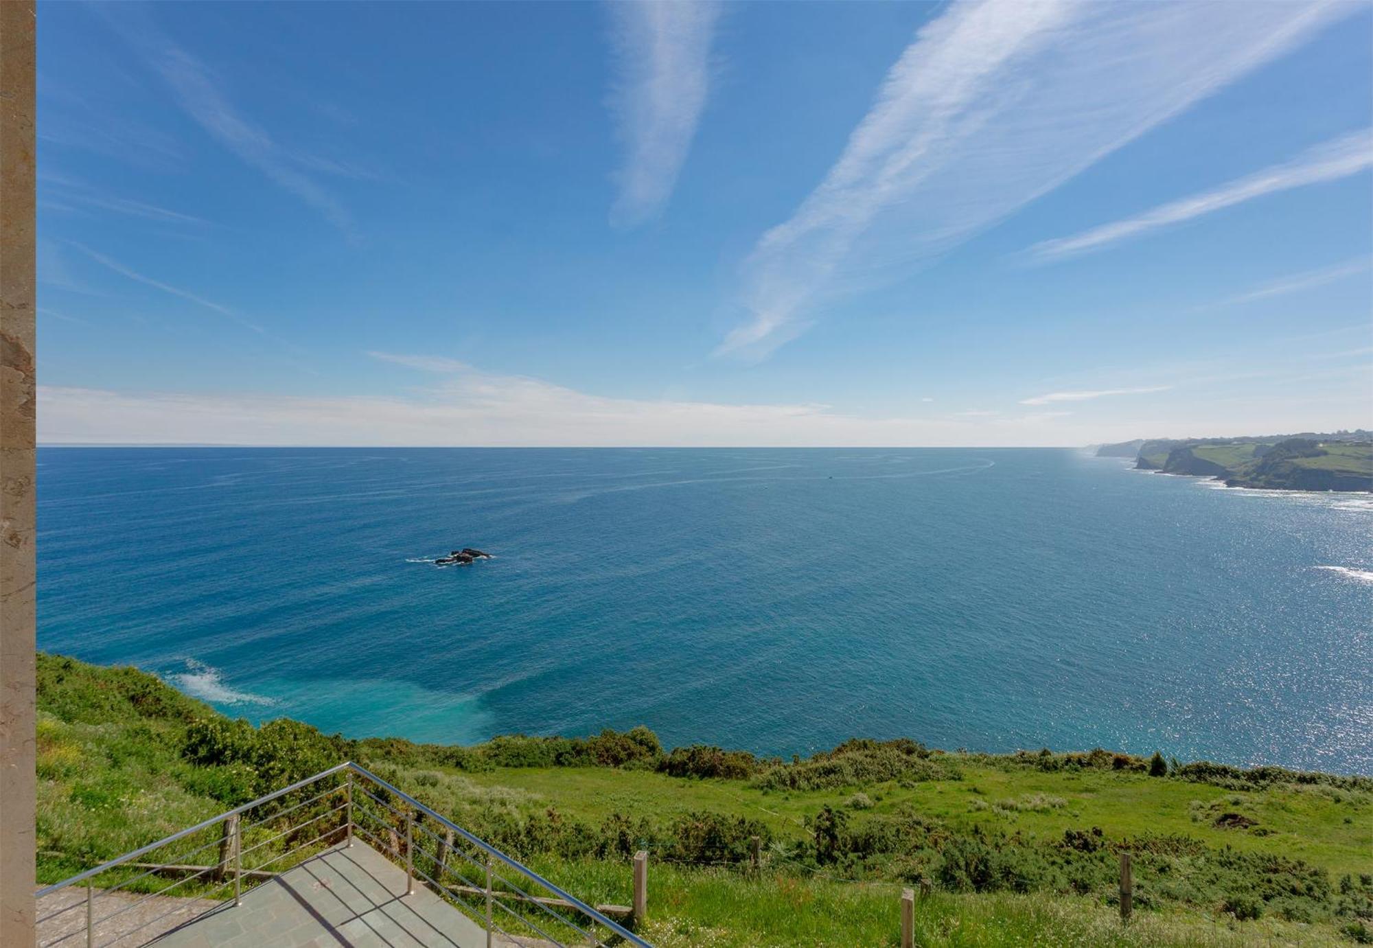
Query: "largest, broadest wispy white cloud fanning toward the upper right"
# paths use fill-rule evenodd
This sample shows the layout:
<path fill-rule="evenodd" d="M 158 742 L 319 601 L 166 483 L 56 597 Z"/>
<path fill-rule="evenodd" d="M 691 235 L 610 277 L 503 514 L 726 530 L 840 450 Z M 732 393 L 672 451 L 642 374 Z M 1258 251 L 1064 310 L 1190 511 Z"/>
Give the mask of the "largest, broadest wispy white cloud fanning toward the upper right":
<path fill-rule="evenodd" d="M 821 304 L 909 273 L 1350 12 L 956 3 L 887 73 L 825 180 L 758 242 L 748 317 L 717 353 L 766 354 Z"/>

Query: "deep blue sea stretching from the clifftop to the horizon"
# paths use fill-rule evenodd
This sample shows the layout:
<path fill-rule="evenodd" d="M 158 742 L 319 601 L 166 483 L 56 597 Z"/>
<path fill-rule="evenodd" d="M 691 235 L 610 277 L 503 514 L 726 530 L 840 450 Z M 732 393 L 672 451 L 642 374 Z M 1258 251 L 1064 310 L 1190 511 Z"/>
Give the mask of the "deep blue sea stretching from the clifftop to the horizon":
<path fill-rule="evenodd" d="M 1061 449 L 48 448 L 38 643 L 253 720 L 1373 774 L 1373 499 Z M 437 567 L 474 545 L 496 558 Z"/>

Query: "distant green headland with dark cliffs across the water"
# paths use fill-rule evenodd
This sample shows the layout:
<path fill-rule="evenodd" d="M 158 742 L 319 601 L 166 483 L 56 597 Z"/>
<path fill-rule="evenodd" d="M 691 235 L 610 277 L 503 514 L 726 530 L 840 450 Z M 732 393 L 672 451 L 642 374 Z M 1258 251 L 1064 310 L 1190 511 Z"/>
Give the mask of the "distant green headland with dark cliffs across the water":
<path fill-rule="evenodd" d="M 1211 477 L 1233 488 L 1373 490 L 1373 434 L 1295 434 L 1267 438 L 1124 441 L 1098 458 L 1134 458 L 1135 467 Z"/>

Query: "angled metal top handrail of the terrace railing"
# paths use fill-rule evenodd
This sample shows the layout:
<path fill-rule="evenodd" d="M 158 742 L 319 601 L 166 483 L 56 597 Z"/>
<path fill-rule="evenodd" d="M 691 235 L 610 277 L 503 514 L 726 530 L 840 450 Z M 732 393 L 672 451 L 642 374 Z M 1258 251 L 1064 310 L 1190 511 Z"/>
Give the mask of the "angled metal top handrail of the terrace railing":
<path fill-rule="evenodd" d="M 147 853 L 150 853 L 150 852 L 152 852 L 155 849 L 159 849 L 161 846 L 165 846 L 168 844 L 176 842 L 177 839 L 188 837 L 188 835 L 191 835 L 194 833 L 198 833 L 200 830 L 205 830 L 205 828 L 209 828 L 209 827 L 216 826 L 218 823 L 222 823 L 224 820 L 227 820 L 227 819 L 229 819 L 232 816 L 239 816 L 242 813 L 246 813 L 247 811 L 254 809 L 257 806 L 261 806 L 262 804 L 272 802 L 273 800 L 276 800 L 279 797 L 284 797 L 288 793 L 292 793 L 292 791 L 299 790 L 302 787 L 310 786 L 312 783 L 317 783 L 319 780 L 323 780 L 325 778 L 334 776 L 335 774 L 339 774 L 339 772 L 343 772 L 343 771 L 350 771 L 353 774 L 357 774 L 358 776 L 362 776 L 367 780 L 371 780 L 376 787 L 384 790 L 386 793 L 390 793 L 390 794 L 398 797 L 401 801 L 404 801 L 406 805 L 409 805 L 411 808 L 413 808 L 416 812 L 424 813 L 430 819 L 432 819 L 437 823 L 439 823 L 439 824 L 448 827 L 449 830 L 452 830 L 456 835 L 461 837 L 468 844 L 476 846 L 481 852 L 486 853 L 489 859 L 498 860 L 500 863 L 504 863 L 505 866 L 508 866 L 509 868 L 515 870 L 516 872 L 519 872 L 520 875 L 523 875 L 524 878 L 527 878 L 533 883 L 535 883 L 538 886 L 542 886 L 548 892 L 552 892 L 557 899 L 563 900 L 567 904 L 568 908 L 575 910 L 577 912 L 581 912 L 582 915 L 585 915 L 592 922 L 596 922 L 596 923 L 600 923 L 600 925 L 605 926 L 610 930 L 611 934 L 619 936 L 627 944 L 634 945 L 636 948 L 654 948 L 648 941 L 644 941 L 641 937 L 638 937 L 637 934 L 634 934 L 633 932 L 630 932 L 625 926 L 622 926 L 618 922 L 607 918 L 604 914 L 601 914 L 593 905 L 589 905 L 589 904 L 584 903 L 581 899 L 578 899 L 577 896 L 571 894 L 570 892 L 567 892 L 567 890 L 564 890 L 564 889 L 553 885 L 552 882 L 549 882 L 548 879 L 545 879 L 542 875 L 540 875 L 534 870 L 531 870 L 531 868 L 523 866 L 522 863 L 519 863 L 518 860 L 507 856 L 505 853 L 503 853 L 496 846 L 492 846 L 490 844 L 487 844 L 485 839 L 481 839 L 479 837 L 474 835 L 472 833 L 468 833 L 467 830 L 464 830 L 463 827 L 457 826 L 456 823 L 453 823 L 450 819 L 448 819 L 442 813 L 439 813 L 439 812 L 434 811 L 432 808 L 422 804 L 419 800 L 416 800 L 411 794 L 405 793 L 400 787 L 395 787 L 394 785 L 383 780 L 378 775 L 372 774 L 367 768 L 364 768 L 360 764 L 356 764 L 353 761 L 345 761 L 342 764 L 336 764 L 335 767 L 331 767 L 327 771 L 321 771 L 321 772 L 316 774 L 314 776 L 308 776 L 303 780 L 297 780 L 295 783 L 292 783 L 288 787 L 283 787 L 280 790 L 273 790 L 272 793 L 264 794 L 262 797 L 258 797 L 257 800 L 246 802 L 242 806 L 235 806 L 233 809 L 228 809 L 228 811 L 220 813 L 218 816 L 211 816 L 210 819 L 202 820 L 202 822 L 196 823 L 195 826 L 187 827 L 184 830 L 180 830 L 178 833 L 173 833 L 172 835 L 163 837 L 162 839 L 158 839 L 157 842 L 151 842 L 151 844 L 148 844 L 146 846 L 135 849 L 133 852 L 128 852 L 128 853 L 125 853 L 122 856 L 111 859 L 111 860 L 108 860 L 106 863 L 102 863 L 100 866 L 96 866 L 95 868 L 89 868 L 89 870 L 85 870 L 84 872 L 78 872 L 77 875 L 73 875 L 69 879 L 63 879 L 62 882 L 55 882 L 55 883 L 52 883 L 49 886 L 44 886 L 43 889 L 38 889 L 34 893 L 34 899 L 43 899 L 45 896 L 49 896 L 49 894 L 55 893 L 55 892 L 66 889 L 67 886 L 71 886 L 71 885 L 76 885 L 76 883 L 80 883 L 80 882 L 86 882 L 88 879 L 92 879 L 92 878 L 100 875 L 102 872 L 107 872 L 111 868 L 117 868 L 117 867 L 119 867 L 119 866 L 122 866 L 125 863 L 129 863 L 129 861 L 133 861 L 133 860 L 139 859 L 140 856 L 146 856 Z M 368 797 L 372 797 L 372 794 L 367 793 L 367 790 L 362 790 L 362 793 L 365 795 L 368 795 Z M 320 800 L 324 795 L 327 795 L 327 794 L 320 794 L 320 795 L 314 797 L 314 800 L 306 801 L 306 802 L 314 802 L 314 801 Z M 372 797 L 372 800 L 375 800 L 376 802 L 382 804 L 387 809 L 391 809 L 391 812 L 397 812 L 394 808 L 391 808 L 390 805 L 384 804 L 384 801 L 378 800 L 376 797 Z M 297 808 L 292 808 L 292 809 L 298 809 L 298 808 L 299 808 L 299 805 Z M 342 806 L 338 806 L 334 811 L 330 811 L 330 813 L 335 813 L 339 809 L 342 809 Z M 364 812 L 365 812 L 365 809 L 364 809 Z M 316 820 L 317 819 L 321 819 L 321 817 L 316 817 Z M 351 812 L 349 815 L 347 823 L 349 823 L 350 827 L 353 826 Z M 334 830 L 331 830 L 330 833 L 332 833 L 332 831 Z M 328 835 L 328 833 L 325 833 L 325 834 L 323 834 L 320 837 L 316 837 L 316 839 L 313 839 L 310 844 L 306 844 L 306 845 L 313 845 L 314 842 L 319 842 L 320 839 L 323 839 L 325 835 Z M 368 834 L 368 835 L 371 835 L 371 834 Z M 432 833 L 430 835 L 432 835 Z M 273 837 L 273 839 L 275 838 L 276 837 Z M 437 839 L 437 837 L 435 837 L 435 839 Z M 205 849 L 209 845 L 211 845 L 211 844 L 205 844 L 205 845 L 199 846 L 199 849 Z M 254 849 L 259 848 L 262 845 L 265 845 L 265 842 L 257 844 L 257 846 L 254 846 Z M 283 853 L 281 856 L 284 856 L 284 855 L 288 855 L 288 853 Z M 281 859 L 281 856 L 277 856 L 277 859 Z M 468 856 L 468 860 L 472 861 L 470 856 Z M 205 871 L 209 871 L 210 868 L 213 868 L 213 867 L 207 867 Z M 490 872 L 490 870 L 487 870 L 487 872 Z M 426 878 L 428 878 L 428 877 L 426 875 Z M 514 885 L 514 883 L 508 883 L 508 885 Z M 439 886 L 439 888 L 446 890 L 446 886 Z M 518 886 L 516 886 L 516 890 L 519 890 Z M 504 905 L 503 905 L 503 908 L 504 908 Z M 509 910 L 507 908 L 507 911 L 509 911 Z M 577 929 L 578 932 L 581 932 L 581 929 L 577 925 L 568 922 L 567 919 L 563 919 L 563 922 L 566 925 L 571 925 L 574 929 Z M 527 923 L 527 921 L 526 921 L 526 923 Z M 586 934 L 586 933 L 584 932 L 582 934 Z"/>

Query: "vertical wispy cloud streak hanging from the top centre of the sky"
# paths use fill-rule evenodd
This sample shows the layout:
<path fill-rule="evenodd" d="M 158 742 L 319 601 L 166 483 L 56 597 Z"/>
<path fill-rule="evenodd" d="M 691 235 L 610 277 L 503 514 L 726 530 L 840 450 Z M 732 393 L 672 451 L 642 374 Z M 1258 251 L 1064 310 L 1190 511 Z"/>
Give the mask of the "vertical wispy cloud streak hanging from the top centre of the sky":
<path fill-rule="evenodd" d="M 627 154 L 611 223 L 634 227 L 662 212 L 710 92 L 715 0 L 621 0 L 608 5 L 619 77 L 611 107 Z"/>

